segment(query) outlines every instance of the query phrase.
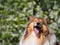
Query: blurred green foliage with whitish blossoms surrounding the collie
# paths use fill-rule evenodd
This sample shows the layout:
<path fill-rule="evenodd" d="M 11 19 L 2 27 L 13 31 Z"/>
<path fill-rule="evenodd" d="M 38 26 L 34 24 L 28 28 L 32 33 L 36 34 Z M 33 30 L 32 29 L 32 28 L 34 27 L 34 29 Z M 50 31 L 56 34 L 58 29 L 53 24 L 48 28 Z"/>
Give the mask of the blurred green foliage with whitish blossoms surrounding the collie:
<path fill-rule="evenodd" d="M 29 16 L 47 18 L 60 42 L 60 0 L 0 0 L 0 45 L 18 45 Z"/>

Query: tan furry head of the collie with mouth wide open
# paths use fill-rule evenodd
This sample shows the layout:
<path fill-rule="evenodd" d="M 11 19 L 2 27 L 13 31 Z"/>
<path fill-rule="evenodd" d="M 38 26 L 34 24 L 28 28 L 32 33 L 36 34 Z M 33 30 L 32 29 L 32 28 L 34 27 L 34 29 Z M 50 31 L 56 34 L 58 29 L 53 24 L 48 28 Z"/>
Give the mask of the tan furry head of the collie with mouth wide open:
<path fill-rule="evenodd" d="M 34 32 L 37 37 L 40 37 L 41 34 L 44 34 L 44 35 L 48 34 L 46 20 L 39 17 L 30 17 L 29 19 L 30 20 L 29 20 L 29 23 L 27 25 L 27 30 L 26 30 L 27 35 L 30 35 L 32 32 Z"/>

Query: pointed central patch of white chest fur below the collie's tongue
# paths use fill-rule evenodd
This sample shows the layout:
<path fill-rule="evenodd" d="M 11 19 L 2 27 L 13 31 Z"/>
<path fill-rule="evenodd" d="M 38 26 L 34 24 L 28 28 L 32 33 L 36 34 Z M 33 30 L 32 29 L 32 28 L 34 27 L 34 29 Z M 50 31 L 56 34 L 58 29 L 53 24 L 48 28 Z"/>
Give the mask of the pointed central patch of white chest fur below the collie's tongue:
<path fill-rule="evenodd" d="M 23 45 L 38 45 L 38 39 L 34 32 L 25 40 Z"/>

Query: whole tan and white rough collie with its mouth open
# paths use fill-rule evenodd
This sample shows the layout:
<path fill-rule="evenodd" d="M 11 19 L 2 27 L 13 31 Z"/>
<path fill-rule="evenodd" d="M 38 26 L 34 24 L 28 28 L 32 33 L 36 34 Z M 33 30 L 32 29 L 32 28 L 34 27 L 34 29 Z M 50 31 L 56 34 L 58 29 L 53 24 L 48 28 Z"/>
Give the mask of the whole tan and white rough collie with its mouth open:
<path fill-rule="evenodd" d="M 45 19 L 32 16 L 19 45 L 56 45 L 56 36 Z"/>

